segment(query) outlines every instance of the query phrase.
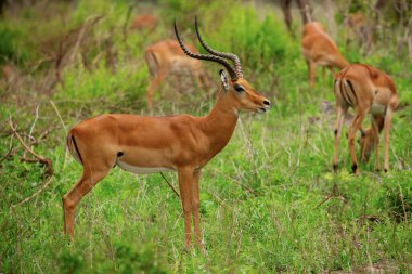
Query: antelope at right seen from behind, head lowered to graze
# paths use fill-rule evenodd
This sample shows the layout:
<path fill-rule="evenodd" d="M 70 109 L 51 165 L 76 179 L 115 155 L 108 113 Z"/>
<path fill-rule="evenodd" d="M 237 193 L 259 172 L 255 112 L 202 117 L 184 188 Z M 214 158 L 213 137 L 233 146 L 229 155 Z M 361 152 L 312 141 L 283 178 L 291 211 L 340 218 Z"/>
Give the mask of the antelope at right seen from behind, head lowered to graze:
<path fill-rule="evenodd" d="M 384 129 L 384 170 L 389 170 L 389 130 L 392 113 L 398 106 L 398 94 L 392 79 L 384 71 L 369 65 L 349 65 L 335 78 L 336 128 L 333 168 L 337 170 L 338 145 L 342 126 L 349 107 L 355 117 L 347 131 L 349 153 L 353 173 L 359 173 L 355 154 L 355 136 L 361 131 L 361 160 L 368 161 L 373 149 L 376 151 L 376 169 L 379 170 L 379 133 Z M 362 129 L 366 114 L 371 114 L 372 126 Z"/>

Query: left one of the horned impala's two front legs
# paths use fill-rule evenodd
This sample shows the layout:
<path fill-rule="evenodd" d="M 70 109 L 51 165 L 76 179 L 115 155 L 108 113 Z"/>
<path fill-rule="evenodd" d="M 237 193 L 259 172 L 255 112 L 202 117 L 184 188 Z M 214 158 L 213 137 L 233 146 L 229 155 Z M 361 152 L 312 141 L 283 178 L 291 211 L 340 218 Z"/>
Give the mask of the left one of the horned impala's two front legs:
<path fill-rule="evenodd" d="M 191 213 L 192 213 L 192 187 L 193 170 L 191 168 L 179 168 L 179 191 L 184 214 L 184 239 L 185 248 L 190 249 L 191 242 Z"/>

